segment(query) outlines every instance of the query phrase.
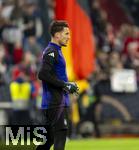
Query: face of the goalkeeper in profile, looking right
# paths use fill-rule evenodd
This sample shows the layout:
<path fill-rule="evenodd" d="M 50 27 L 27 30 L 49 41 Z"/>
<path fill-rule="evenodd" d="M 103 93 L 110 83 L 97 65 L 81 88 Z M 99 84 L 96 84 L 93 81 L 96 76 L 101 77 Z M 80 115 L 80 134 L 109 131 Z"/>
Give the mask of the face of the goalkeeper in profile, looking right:
<path fill-rule="evenodd" d="M 69 28 L 64 27 L 64 29 L 61 32 L 59 32 L 59 45 L 67 46 L 69 39 L 70 39 Z"/>

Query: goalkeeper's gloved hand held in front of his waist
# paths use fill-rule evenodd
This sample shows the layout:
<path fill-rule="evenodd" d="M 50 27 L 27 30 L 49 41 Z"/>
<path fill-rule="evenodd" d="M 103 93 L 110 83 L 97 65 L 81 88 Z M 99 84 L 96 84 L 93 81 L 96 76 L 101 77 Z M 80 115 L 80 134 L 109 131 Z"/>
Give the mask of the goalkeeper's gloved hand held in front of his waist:
<path fill-rule="evenodd" d="M 71 93 L 71 94 L 73 94 L 73 93 L 78 94 L 79 88 L 78 88 L 77 84 L 74 82 L 66 82 L 64 91 L 66 91 L 67 93 Z"/>

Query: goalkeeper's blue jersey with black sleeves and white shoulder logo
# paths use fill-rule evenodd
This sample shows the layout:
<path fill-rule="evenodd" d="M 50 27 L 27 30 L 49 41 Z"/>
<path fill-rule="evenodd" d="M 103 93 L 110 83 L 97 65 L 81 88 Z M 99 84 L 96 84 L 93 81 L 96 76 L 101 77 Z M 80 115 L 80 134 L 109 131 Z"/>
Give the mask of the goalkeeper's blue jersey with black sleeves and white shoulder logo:
<path fill-rule="evenodd" d="M 43 51 L 38 78 L 43 87 L 42 109 L 69 106 L 69 96 L 63 90 L 68 81 L 66 63 L 59 45 L 50 42 Z"/>

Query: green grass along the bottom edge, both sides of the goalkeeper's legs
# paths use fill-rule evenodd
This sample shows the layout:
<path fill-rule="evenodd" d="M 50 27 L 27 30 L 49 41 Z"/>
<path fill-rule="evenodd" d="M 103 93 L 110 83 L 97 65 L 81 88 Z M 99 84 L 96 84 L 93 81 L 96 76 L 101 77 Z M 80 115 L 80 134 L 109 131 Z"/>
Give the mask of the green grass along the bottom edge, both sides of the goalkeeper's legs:
<path fill-rule="evenodd" d="M 0 144 L 1 150 L 35 150 L 31 146 L 5 146 Z M 52 149 L 51 149 L 52 150 Z M 139 138 L 117 138 L 117 139 L 83 139 L 70 140 L 66 143 L 65 150 L 139 150 Z"/>

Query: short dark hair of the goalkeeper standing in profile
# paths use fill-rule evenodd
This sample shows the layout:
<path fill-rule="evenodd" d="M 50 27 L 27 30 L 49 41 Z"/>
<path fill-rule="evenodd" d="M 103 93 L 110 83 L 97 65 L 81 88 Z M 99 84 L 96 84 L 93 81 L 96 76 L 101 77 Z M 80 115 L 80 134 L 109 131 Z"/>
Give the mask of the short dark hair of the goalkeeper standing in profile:
<path fill-rule="evenodd" d="M 50 24 L 50 28 L 49 28 L 51 36 L 54 36 L 56 32 L 62 31 L 64 27 L 69 28 L 69 25 L 66 21 L 64 21 L 64 20 L 55 20 L 55 21 L 53 21 Z"/>

